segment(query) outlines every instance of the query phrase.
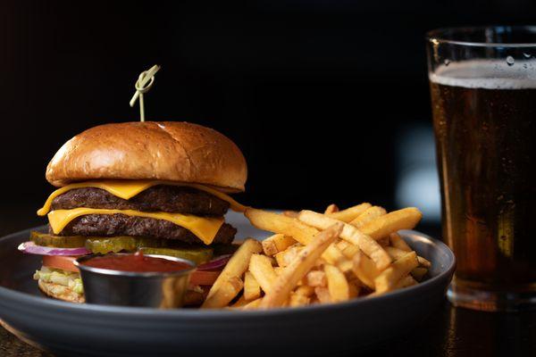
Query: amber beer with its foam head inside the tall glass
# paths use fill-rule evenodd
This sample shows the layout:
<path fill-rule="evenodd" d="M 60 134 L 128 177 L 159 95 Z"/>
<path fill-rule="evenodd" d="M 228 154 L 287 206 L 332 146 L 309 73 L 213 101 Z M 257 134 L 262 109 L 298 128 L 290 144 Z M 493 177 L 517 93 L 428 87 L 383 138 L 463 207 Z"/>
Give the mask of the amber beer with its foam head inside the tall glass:
<path fill-rule="evenodd" d="M 522 63 L 490 76 L 498 64 L 430 75 L 443 235 L 458 288 L 523 295 L 536 292 L 536 79 L 516 76 Z"/>

